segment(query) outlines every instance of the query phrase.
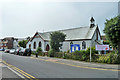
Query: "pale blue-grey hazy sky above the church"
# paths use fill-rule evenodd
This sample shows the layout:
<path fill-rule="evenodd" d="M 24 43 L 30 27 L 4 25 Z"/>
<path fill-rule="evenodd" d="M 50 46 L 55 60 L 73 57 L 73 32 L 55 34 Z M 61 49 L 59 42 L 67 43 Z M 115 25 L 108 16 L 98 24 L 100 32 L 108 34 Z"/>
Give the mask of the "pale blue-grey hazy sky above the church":
<path fill-rule="evenodd" d="M 63 30 L 90 25 L 94 17 L 101 35 L 106 19 L 118 15 L 118 1 L 7 1 L 0 5 L 0 38 L 32 37 L 35 32 Z"/>

